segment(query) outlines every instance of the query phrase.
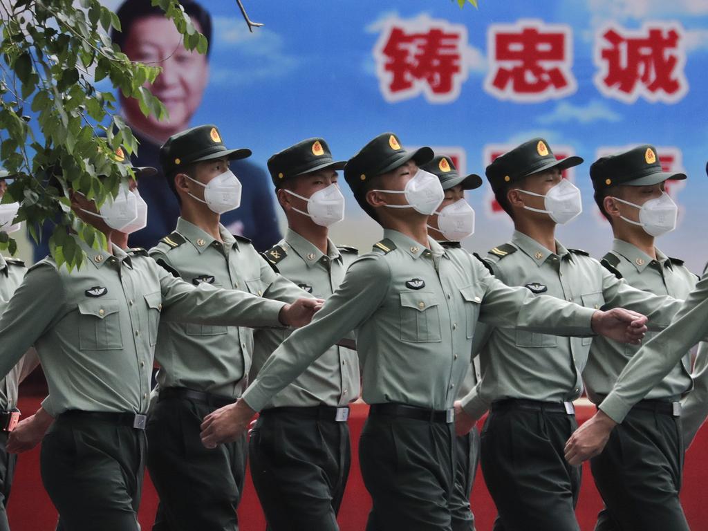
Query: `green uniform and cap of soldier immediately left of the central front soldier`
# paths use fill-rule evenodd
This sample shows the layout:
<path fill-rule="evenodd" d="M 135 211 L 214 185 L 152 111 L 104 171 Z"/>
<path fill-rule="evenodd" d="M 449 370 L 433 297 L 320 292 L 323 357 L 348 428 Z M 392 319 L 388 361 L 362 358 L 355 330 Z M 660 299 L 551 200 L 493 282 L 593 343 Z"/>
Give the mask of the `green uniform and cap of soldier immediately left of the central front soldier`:
<path fill-rule="evenodd" d="M 276 188 L 292 178 L 343 165 L 333 161 L 321 138 L 298 142 L 268 159 Z M 357 255 L 356 249 L 329 240 L 323 253 L 290 228 L 263 253 L 280 275 L 320 299 L 332 295 Z M 289 335 L 285 330 L 255 331 L 253 378 Z M 359 397 L 359 379 L 355 350 L 331 346 L 261 411 L 249 440 L 249 457 L 270 530 L 338 530 L 336 515 L 351 462 L 348 404 Z"/>

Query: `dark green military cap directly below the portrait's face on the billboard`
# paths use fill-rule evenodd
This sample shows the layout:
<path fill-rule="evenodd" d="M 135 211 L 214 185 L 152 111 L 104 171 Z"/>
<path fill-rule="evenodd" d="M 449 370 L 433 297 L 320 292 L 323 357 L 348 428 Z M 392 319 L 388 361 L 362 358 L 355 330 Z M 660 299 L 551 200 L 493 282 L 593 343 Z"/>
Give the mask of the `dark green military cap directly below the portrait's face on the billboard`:
<path fill-rule="evenodd" d="M 167 139 L 160 148 L 160 165 L 166 176 L 170 176 L 187 164 L 228 157 L 245 159 L 251 150 L 227 149 L 215 125 L 198 125 L 178 132 Z"/>

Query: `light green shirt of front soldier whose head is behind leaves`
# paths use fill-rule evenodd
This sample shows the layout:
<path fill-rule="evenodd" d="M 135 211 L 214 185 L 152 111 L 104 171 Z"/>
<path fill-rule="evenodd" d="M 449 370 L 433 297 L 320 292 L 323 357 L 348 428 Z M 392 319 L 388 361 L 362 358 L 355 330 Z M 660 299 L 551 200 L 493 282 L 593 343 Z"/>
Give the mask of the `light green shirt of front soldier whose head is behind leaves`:
<path fill-rule="evenodd" d="M 35 264 L 0 318 L 0 375 L 33 343 L 47 377 L 47 411 L 144 413 L 161 319 L 279 326 L 282 302 L 174 278 L 143 249 L 113 255 L 79 243 L 80 269 Z"/>

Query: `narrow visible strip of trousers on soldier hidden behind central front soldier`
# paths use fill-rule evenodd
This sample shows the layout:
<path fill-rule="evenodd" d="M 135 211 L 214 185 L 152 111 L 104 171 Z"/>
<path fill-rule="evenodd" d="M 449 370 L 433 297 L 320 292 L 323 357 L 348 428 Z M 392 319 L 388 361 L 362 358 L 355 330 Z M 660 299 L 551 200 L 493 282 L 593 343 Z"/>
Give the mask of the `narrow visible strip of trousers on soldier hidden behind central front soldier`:
<path fill-rule="evenodd" d="M 455 486 L 450 496 L 450 517 L 452 531 L 474 531 L 474 514 L 469 506 L 472 484 L 479 464 L 479 432 L 477 428 L 455 441 L 457 462 L 455 463 Z"/>

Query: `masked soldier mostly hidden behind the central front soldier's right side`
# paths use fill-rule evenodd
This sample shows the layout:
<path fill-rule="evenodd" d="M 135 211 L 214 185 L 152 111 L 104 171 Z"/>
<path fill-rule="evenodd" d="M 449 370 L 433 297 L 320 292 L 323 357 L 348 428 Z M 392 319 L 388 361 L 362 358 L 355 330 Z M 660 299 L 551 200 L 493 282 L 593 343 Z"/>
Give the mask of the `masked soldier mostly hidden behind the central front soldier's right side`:
<path fill-rule="evenodd" d="M 438 176 L 442 190 L 445 190 L 445 199 L 440 203 L 438 212 L 428 218 L 428 234 L 437 240 L 448 254 L 467 253 L 459 241 L 474 233 L 474 210 L 464 199 L 464 191 L 479 188 L 482 185 L 481 177 L 474 173 L 460 176 L 450 157 L 441 155 L 433 157 L 433 160 L 423 164 L 421 169 Z M 473 255 L 486 267 L 486 262 L 482 261 L 479 255 Z M 477 383 L 479 367 L 476 358 L 472 358 L 470 356 L 469 370 L 457 390 L 457 399 L 466 396 Z M 474 514 L 469 506 L 469 496 L 479 464 L 479 431 L 472 428 L 469 433 L 458 435 L 455 446 L 455 486 L 450 496 L 452 531 L 474 531 Z"/>

